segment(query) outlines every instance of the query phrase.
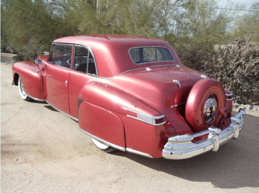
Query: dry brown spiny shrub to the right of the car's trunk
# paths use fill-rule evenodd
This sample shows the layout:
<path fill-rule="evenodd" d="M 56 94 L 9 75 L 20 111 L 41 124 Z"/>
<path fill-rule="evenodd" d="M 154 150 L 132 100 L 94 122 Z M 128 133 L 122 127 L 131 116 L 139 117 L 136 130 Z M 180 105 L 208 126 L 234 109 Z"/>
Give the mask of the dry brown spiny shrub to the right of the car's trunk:
<path fill-rule="evenodd" d="M 235 102 L 248 102 L 252 89 L 259 88 L 259 43 L 249 43 L 252 38 L 237 38 L 219 47 L 204 65 L 204 72 L 231 91 Z"/>

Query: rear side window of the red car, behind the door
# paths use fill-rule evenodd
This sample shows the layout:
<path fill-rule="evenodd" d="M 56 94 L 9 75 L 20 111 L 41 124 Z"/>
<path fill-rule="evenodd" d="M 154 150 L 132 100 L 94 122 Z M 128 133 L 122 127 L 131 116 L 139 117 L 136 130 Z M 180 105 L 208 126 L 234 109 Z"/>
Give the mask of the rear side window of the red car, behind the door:
<path fill-rule="evenodd" d="M 86 47 L 75 45 L 74 70 L 97 76 L 94 57 Z"/>

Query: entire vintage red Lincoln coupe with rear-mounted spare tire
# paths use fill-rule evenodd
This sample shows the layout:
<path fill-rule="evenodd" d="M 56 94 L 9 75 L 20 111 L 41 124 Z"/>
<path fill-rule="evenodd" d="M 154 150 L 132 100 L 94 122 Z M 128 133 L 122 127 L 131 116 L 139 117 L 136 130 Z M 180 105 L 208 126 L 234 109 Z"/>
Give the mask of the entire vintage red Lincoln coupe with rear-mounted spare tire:
<path fill-rule="evenodd" d="M 232 93 L 154 38 L 59 38 L 50 53 L 12 69 L 22 99 L 78 121 L 105 152 L 185 159 L 217 151 L 244 125 L 244 110 L 231 116 Z"/>

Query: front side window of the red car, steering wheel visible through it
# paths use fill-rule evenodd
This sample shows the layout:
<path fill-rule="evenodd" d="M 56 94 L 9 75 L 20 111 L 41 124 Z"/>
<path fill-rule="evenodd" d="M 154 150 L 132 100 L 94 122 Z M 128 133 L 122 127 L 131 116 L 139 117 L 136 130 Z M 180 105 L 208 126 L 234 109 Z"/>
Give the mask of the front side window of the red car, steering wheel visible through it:
<path fill-rule="evenodd" d="M 66 68 L 71 68 L 72 45 L 56 44 L 53 63 Z"/>

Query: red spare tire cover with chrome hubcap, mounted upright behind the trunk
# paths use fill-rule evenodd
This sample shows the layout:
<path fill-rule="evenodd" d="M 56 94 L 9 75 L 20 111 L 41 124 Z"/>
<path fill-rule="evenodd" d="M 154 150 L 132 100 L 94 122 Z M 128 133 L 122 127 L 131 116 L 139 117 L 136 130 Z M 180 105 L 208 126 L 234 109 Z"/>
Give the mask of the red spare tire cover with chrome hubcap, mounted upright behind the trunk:
<path fill-rule="evenodd" d="M 225 92 L 222 85 L 212 78 L 201 79 L 188 95 L 185 106 L 186 121 L 196 132 L 206 130 L 210 126 L 216 126 L 219 109 L 224 106 Z"/>

